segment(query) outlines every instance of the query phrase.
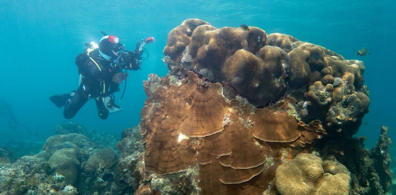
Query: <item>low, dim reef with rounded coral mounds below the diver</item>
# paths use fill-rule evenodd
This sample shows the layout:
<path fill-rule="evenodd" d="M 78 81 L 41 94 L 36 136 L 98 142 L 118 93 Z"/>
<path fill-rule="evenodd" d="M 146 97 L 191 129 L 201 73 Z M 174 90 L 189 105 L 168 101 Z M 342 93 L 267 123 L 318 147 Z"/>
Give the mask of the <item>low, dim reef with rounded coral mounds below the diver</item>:
<path fill-rule="evenodd" d="M 115 147 L 114 135 L 98 134 L 72 122 L 58 124 L 57 129 L 83 130 L 86 136 L 77 133 L 51 136 L 35 157 L 25 156 L 12 164 L 0 161 L 0 194 L 133 193 L 116 166 L 118 154 L 106 147 Z M 4 154 L 10 158 L 9 153 Z"/>

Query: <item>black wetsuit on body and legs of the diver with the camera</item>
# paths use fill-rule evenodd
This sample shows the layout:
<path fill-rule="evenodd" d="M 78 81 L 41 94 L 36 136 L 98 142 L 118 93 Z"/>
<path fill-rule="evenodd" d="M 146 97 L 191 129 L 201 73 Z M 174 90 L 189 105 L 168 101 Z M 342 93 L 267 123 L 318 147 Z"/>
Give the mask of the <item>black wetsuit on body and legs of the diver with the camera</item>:
<path fill-rule="evenodd" d="M 89 56 L 96 61 L 101 70 Z M 119 84 L 113 82 L 112 78 L 116 73 L 121 72 L 121 70 L 112 68 L 110 66 L 111 61 L 101 57 L 97 49 L 90 52 L 89 56 L 87 52 L 84 52 L 76 57 L 78 73 L 82 74 L 84 77 L 74 95 L 68 94 L 67 96 L 65 109 L 63 111 L 63 116 L 66 119 L 74 117 L 80 108 L 91 98 L 94 98 L 96 101 L 99 117 L 101 119 L 107 119 L 109 111 L 105 108 L 102 97 L 109 96 L 113 92 L 119 90 Z M 95 97 L 99 97 L 99 100 Z"/>

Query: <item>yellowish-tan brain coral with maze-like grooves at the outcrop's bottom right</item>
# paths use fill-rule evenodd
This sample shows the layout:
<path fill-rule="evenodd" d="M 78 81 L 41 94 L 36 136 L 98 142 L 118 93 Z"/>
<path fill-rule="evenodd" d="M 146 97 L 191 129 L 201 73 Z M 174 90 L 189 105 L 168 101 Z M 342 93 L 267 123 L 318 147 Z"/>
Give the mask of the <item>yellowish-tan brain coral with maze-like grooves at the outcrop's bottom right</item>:
<path fill-rule="evenodd" d="M 299 154 L 275 172 L 273 195 L 347 195 L 350 176 L 343 164 Z"/>

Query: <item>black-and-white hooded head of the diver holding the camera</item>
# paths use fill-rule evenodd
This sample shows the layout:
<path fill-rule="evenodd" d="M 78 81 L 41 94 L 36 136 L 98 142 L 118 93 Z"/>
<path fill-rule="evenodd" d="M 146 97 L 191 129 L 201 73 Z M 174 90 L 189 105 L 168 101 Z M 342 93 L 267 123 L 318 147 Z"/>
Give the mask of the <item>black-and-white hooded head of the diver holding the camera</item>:
<path fill-rule="evenodd" d="M 99 53 L 105 59 L 109 60 L 112 57 L 116 58 L 117 55 L 114 53 L 119 52 L 120 45 L 118 44 L 119 38 L 116 36 L 103 36 L 99 41 Z"/>

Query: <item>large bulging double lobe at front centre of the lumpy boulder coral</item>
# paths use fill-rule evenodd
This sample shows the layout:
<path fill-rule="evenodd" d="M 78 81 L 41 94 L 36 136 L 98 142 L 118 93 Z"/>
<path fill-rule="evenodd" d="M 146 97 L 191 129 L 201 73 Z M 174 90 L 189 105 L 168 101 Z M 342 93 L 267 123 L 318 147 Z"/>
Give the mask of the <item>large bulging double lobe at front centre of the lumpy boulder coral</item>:
<path fill-rule="evenodd" d="M 256 55 L 238 50 L 225 61 L 222 80 L 254 105 L 278 99 L 286 91 L 282 53 L 280 48 L 273 46 L 264 46 Z"/>

